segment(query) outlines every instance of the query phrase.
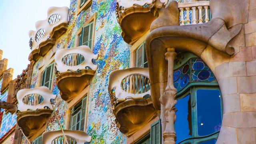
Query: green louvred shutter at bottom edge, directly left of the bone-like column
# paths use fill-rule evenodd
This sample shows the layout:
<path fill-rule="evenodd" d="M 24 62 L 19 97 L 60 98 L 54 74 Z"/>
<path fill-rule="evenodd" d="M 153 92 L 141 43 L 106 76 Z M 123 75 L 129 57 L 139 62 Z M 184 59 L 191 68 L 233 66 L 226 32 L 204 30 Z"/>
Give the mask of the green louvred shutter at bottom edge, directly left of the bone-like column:
<path fill-rule="evenodd" d="M 161 144 L 161 122 L 160 120 L 151 124 L 150 141 L 151 144 Z"/>

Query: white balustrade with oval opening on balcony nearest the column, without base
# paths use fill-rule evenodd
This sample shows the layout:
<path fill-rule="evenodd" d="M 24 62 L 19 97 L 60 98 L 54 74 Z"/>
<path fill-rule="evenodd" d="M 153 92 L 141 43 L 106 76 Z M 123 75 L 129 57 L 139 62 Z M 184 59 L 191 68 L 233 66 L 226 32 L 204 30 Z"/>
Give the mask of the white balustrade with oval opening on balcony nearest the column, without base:
<path fill-rule="evenodd" d="M 141 100 L 150 96 L 148 68 L 115 70 L 110 74 L 108 92 L 114 105 L 129 100 Z"/>

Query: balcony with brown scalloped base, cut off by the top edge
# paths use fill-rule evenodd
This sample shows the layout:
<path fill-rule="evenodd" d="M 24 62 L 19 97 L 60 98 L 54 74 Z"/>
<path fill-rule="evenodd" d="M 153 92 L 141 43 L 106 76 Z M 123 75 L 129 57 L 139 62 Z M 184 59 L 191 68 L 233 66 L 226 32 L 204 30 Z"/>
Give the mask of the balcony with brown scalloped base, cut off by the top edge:
<path fill-rule="evenodd" d="M 166 4 L 167 0 L 161 0 Z M 128 44 L 134 44 L 144 33 L 156 16 L 151 12 L 152 0 L 117 0 L 116 16 L 122 28 L 122 37 Z"/>

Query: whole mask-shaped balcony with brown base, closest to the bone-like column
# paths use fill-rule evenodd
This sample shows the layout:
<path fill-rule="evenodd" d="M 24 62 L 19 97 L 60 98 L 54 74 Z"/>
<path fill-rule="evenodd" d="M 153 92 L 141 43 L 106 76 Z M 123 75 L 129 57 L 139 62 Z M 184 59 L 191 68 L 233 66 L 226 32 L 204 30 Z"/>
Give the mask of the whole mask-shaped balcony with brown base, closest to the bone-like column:
<path fill-rule="evenodd" d="M 108 92 L 120 132 L 131 136 L 156 117 L 150 94 L 148 68 L 115 70 Z"/>

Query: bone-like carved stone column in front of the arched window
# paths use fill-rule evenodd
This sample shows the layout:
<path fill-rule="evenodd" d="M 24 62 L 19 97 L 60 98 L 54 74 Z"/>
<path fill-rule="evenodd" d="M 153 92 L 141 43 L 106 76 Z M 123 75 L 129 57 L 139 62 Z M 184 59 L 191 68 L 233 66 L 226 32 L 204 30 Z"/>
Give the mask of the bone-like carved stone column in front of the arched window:
<path fill-rule="evenodd" d="M 175 48 L 167 48 L 165 53 L 165 59 L 168 60 L 168 80 L 164 94 L 160 96 L 160 102 L 163 105 L 164 117 L 166 119 L 166 126 L 164 128 L 164 144 L 175 144 L 176 132 L 174 130 L 174 122 L 176 120 L 176 108 L 177 103 L 176 94 L 177 90 L 173 85 L 173 65 L 176 57 Z"/>

